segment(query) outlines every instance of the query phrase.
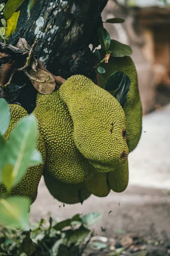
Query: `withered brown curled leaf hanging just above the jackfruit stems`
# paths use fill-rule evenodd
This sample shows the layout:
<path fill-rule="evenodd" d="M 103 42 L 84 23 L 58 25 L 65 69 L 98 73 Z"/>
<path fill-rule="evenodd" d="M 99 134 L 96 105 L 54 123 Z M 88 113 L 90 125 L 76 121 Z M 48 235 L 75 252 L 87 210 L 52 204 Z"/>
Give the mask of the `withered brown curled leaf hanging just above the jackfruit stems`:
<path fill-rule="evenodd" d="M 49 74 L 48 72 L 46 72 L 42 69 L 38 69 L 37 72 L 35 72 L 34 70 L 30 70 L 30 71 L 28 71 L 28 73 L 32 77 L 37 78 L 42 81 L 45 81 L 50 77 L 50 79 L 45 83 L 39 83 L 39 82 L 31 80 L 35 89 L 39 93 L 50 94 L 55 90 L 55 80 L 54 80 L 53 76 L 51 74 Z"/>

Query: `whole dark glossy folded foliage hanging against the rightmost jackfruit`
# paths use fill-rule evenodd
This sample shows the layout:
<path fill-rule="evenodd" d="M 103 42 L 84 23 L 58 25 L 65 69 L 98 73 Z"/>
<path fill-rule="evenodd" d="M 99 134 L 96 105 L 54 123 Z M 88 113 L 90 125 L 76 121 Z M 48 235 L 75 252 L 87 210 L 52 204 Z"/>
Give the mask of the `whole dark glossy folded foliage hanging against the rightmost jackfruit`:
<path fill-rule="evenodd" d="M 112 75 L 107 80 L 105 90 L 115 90 L 114 97 L 121 104 L 122 108 L 124 108 L 124 105 L 127 102 L 127 95 L 130 90 L 129 76 L 126 76 L 124 72 L 121 71 L 112 73 Z"/>

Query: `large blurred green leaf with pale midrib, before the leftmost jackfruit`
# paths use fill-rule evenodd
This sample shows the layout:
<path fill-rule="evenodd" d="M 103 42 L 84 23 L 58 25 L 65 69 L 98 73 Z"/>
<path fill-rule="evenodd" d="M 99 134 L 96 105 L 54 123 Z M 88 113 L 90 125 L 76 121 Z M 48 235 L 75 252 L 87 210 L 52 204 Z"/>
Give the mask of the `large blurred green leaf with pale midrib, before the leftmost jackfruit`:
<path fill-rule="evenodd" d="M 26 169 L 32 163 L 32 154 L 35 151 L 37 139 L 37 122 L 34 115 L 24 117 L 17 123 L 8 143 L 4 146 L 3 155 L 6 163 L 11 163 L 14 166 L 13 177 L 14 183 L 23 177 Z M 0 162 L 0 170 L 6 164 Z M 0 177 L 1 178 L 1 177 Z M 1 180 L 0 180 L 1 182 Z"/>

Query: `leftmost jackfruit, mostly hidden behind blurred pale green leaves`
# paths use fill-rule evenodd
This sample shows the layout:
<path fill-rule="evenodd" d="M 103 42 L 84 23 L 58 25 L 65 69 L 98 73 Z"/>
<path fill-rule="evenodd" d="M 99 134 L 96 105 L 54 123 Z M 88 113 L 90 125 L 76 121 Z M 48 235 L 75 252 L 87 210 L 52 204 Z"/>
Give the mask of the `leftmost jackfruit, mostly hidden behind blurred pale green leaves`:
<path fill-rule="evenodd" d="M 10 124 L 9 127 L 4 134 L 4 140 L 8 141 L 10 134 L 14 128 L 14 126 L 17 124 L 17 122 L 23 118 L 24 116 L 27 116 L 27 111 L 22 108 L 20 105 L 16 104 L 9 104 L 10 108 Z M 27 196 L 31 199 L 32 203 L 37 198 L 37 188 L 38 184 L 40 182 L 40 178 L 43 173 L 45 158 L 46 158 L 46 149 L 45 149 L 45 143 L 43 141 L 43 137 L 40 133 L 38 133 L 37 137 L 37 150 L 41 153 L 43 164 L 29 167 L 26 171 L 25 175 L 21 178 L 19 183 L 17 183 L 10 193 L 7 193 L 7 196 L 11 195 L 18 195 L 18 196 Z M 1 183 L 0 184 L 0 197 L 3 197 L 4 193 L 6 193 L 6 187 Z M 6 196 L 5 195 L 5 196 Z"/>

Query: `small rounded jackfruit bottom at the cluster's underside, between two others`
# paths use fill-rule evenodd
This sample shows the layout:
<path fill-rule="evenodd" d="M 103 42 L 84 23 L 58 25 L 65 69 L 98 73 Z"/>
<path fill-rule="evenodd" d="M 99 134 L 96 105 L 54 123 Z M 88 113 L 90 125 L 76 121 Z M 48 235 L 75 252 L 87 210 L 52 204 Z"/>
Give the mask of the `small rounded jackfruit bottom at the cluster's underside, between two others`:
<path fill-rule="evenodd" d="M 107 180 L 107 173 L 98 172 L 92 180 L 86 181 L 85 184 L 89 192 L 93 195 L 98 197 L 109 195 L 110 187 Z"/>

